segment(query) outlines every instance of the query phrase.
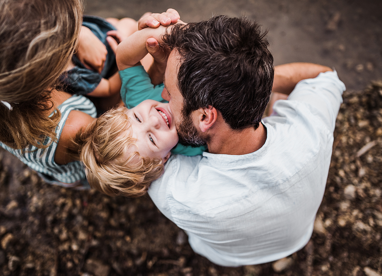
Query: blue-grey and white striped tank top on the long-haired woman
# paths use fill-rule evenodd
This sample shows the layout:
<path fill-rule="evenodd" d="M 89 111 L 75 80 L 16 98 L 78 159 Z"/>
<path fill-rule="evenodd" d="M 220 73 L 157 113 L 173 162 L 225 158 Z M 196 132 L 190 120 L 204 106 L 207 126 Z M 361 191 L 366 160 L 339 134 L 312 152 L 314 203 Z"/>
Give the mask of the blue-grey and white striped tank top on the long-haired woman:
<path fill-rule="evenodd" d="M 73 95 L 64 101 L 57 108 L 61 112 L 61 119 L 56 127 L 57 139 L 60 139 L 62 129 L 66 119 L 72 110 L 79 110 L 91 115 L 97 116 L 97 110 L 94 104 L 84 96 Z M 47 138 L 45 143 L 50 140 Z M 86 175 L 83 165 L 80 161 L 70 162 L 60 165 L 54 162 L 54 154 L 57 148 L 57 142 L 50 144 L 48 148 L 40 149 L 30 145 L 28 148 L 13 149 L 0 142 L 0 146 L 14 154 L 24 164 L 39 173 L 40 176 L 51 184 L 57 184 L 65 187 L 77 186 L 86 182 Z"/>

